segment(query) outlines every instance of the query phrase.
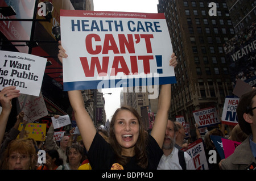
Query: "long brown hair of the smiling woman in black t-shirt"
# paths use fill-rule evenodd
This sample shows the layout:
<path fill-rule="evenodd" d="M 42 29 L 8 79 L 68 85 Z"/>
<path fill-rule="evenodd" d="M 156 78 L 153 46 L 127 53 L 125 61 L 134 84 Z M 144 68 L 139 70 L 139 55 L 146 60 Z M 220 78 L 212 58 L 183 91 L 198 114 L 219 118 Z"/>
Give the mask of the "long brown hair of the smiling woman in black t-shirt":
<path fill-rule="evenodd" d="M 120 165 L 126 165 L 129 162 L 129 158 L 124 157 L 121 153 L 122 153 L 122 148 L 121 145 L 118 144 L 116 138 L 115 138 L 115 134 L 114 134 L 114 124 L 115 124 L 115 119 L 117 116 L 117 113 L 119 111 L 122 110 L 127 110 L 130 111 L 131 113 L 133 113 L 133 115 L 138 119 L 139 121 L 139 137 L 138 140 L 135 144 L 134 147 L 134 155 L 137 161 L 137 165 L 142 167 L 143 169 L 146 169 L 147 167 L 147 153 L 146 153 L 146 146 L 147 146 L 147 132 L 146 130 L 143 128 L 143 124 L 141 121 L 141 116 L 139 116 L 138 112 L 136 110 L 134 110 L 133 107 L 130 106 L 122 106 L 121 108 L 118 108 L 113 117 L 112 120 L 110 122 L 110 129 L 109 129 L 109 142 L 110 145 L 112 146 L 114 152 L 115 152 L 115 157 L 117 162 Z"/>

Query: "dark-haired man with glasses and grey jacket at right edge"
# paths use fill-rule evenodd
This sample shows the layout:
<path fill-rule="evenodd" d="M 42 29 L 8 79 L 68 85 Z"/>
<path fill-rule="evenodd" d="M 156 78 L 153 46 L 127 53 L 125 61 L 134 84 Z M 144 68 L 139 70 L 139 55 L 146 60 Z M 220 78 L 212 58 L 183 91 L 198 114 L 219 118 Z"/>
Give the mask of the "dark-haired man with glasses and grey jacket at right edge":
<path fill-rule="evenodd" d="M 256 89 L 243 94 L 237 106 L 238 124 L 249 136 L 234 153 L 220 162 L 221 169 L 256 169 Z"/>

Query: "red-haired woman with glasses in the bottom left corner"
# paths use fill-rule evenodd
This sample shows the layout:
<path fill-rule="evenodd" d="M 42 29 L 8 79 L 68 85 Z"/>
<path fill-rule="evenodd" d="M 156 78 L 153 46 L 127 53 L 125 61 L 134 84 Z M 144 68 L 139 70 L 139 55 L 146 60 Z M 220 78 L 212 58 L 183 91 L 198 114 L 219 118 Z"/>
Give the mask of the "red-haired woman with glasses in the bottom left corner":
<path fill-rule="evenodd" d="M 5 151 L 2 169 L 35 170 L 37 159 L 35 147 L 30 141 L 13 140 Z"/>

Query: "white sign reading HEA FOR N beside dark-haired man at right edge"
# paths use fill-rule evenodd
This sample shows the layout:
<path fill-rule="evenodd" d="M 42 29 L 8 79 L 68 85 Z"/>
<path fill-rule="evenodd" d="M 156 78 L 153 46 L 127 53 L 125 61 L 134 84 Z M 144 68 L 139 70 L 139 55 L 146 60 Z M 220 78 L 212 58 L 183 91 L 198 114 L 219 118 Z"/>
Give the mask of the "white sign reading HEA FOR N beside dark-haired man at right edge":
<path fill-rule="evenodd" d="M 237 96 L 226 96 L 221 121 L 224 124 L 237 125 L 237 105 L 240 98 Z"/>

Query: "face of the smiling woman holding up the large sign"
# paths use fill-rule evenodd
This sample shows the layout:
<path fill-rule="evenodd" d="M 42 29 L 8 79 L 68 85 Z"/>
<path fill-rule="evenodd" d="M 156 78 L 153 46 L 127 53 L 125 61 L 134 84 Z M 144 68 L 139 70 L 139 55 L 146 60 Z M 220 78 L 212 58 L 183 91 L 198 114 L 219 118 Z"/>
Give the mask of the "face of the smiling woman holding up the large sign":
<path fill-rule="evenodd" d="M 134 145 L 139 137 L 139 121 L 137 117 L 128 110 L 117 113 L 114 124 L 115 138 L 122 149 L 133 153 Z"/>

